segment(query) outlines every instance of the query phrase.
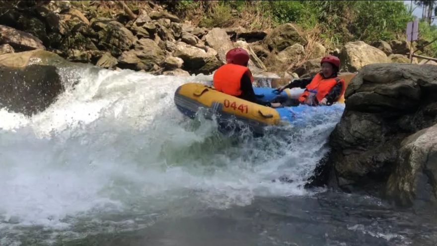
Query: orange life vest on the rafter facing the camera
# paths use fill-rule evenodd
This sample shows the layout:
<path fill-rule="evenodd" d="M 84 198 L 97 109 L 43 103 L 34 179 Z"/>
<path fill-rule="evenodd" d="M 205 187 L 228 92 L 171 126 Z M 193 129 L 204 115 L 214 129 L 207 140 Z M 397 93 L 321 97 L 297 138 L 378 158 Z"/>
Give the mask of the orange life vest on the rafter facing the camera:
<path fill-rule="evenodd" d="M 302 94 L 300 94 L 298 100 L 300 102 L 304 102 L 306 97 L 309 95 L 310 90 L 314 91 L 316 90 L 316 98 L 317 101 L 321 101 L 328 93 L 329 91 L 332 89 L 332 87 L 334 87 L 337 83 L 341 83 L 342 84 L 342 90 L 340 92 L 339 98 L 343 95 L 343 93 L 345 92 L 345 81 L 343 79 L 340 79 L 338 77 L 336 78 L 329 78 L 329 79 L 323 79 L 323 76 L 318 73 L 314 76 L 314 78 L 312 79 L 312 81 L 306 85 L 306 90 L 303 91 Z"/>

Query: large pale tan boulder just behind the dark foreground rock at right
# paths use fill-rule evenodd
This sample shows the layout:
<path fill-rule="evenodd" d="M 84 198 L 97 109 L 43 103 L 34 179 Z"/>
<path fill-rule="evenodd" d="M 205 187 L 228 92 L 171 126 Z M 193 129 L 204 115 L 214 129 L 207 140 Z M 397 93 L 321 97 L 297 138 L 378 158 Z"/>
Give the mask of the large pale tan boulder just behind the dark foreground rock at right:
<path fill-rule="evenodd" d="M 340 53 L 341 70 L 357 72 L 365 65 L 373 63 L 389 63 L 384 52 L 363 41 L 348 42 Z"/>

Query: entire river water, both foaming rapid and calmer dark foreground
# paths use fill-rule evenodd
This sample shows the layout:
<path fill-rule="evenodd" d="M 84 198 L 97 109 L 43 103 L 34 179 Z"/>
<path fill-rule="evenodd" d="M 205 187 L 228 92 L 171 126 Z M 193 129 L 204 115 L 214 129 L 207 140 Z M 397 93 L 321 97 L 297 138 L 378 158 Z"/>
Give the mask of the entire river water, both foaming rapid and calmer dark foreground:
<path fill-rule="evenodd" d="M 303 188 L 343 105 L 228 136 L 174 105 L 206 77 L 60 74 L 67 90 L 44 112 L 0 110 L 1 246 L 437 244 L 435 209 Z"/>

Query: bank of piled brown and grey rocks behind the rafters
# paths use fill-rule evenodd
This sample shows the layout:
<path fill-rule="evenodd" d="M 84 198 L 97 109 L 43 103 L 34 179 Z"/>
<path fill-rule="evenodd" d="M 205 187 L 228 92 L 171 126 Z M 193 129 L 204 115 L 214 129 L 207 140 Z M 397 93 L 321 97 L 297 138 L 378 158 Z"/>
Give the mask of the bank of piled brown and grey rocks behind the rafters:
<path fill-rule="evenodd" d="M 285 80 L 313 75 L 320 57 L 327 54 L 341 57 L 343 72 L 357 72 L 372 63 L 408 63 L 405 41 L 378 41 L 374 47 L 358 41 L 327 50 L 309 42 L 291 23 L 273 30 L 207 29 L 182 21 L 154 1 L 147 2 L 133 13 L 135 17 L 125 13 L 103 17 L 70 1 L 41 1 L 10 9 L 0 17 L 0 52 L 43 49 L 72 62 L 107 69 L 190 75 L 213 73 L 225 62 L 227 50 L 243 47 L 251 55 L 249 67 L 255 74 L 276 72 Z"/>

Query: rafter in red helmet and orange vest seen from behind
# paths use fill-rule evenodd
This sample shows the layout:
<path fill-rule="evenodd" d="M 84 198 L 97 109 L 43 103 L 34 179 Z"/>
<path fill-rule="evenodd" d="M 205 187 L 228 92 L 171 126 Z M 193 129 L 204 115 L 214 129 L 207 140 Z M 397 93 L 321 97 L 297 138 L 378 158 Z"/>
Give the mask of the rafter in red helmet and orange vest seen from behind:
<path fill-rule="evenodd" d="M 214 87 L 223 93 L 238 98 L 271 106 L 270 102 L 263 102 L 256 98 L 253 91 L 253 77 L 249 68 L 249 53 L 241 48 L 229 50 L 226 53 L 226 64 L 219 67 L 214 73 Z"/>

